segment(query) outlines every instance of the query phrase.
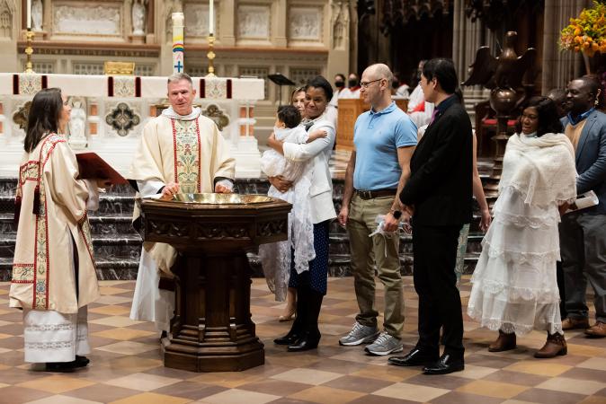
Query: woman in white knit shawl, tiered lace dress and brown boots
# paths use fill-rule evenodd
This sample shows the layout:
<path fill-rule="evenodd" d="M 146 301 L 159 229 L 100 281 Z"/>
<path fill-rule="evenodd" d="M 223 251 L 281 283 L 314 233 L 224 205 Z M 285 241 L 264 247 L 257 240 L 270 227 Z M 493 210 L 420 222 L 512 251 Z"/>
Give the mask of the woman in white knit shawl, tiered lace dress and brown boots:
<path fill-rule="evenodd" d="M 516 335 L 539 329 L 548 337 L 535 357 L 566 355 L 556 281 L 557 224 L 576 196 L 575 152 L 547 97 L 530 99 L 520 125 L 505 149 L 495 219 L 471 278 L 468 314 L 499 330 L 491 352 L 513 349 Z"/>

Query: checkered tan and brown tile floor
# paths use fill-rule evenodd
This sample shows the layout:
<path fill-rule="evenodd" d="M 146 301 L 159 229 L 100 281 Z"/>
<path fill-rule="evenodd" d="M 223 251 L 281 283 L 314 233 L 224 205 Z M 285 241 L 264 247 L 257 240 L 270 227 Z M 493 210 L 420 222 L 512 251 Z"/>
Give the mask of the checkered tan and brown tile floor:
<path fill-rule="evenodd" d="M 352 327 L 357 312 L 352 278 L 330 279 L 317 350 L 289 354 L 272 344 L 290 323 L 277 321 L 282 304 L 273 301 L 263 279 L 254 279 L 253 319 L 266 344 L 266 364 L 241 373 L 167 369 L 152 325 L 129 320 L 134 286 L 102 282 L 102 298 L 89 307 L 92 363 L 76 373 L 58 374 L 23 364 L 22 314 L 7 307 L 8 285 L 0 284 L 0 402 L 606 403 L 606 339 L 584 338 L 578 331 L 566 333 L 567 356 L 539 360 L 532 354 L 542 346 L 543 333 L 520 338 L 515 351 L 490 354 L 486 347 L 495 332 L 467 319 L 466 369 L 446 376 L 388 365 L 386 357 L 366 356 L 361 347 L 339 347 L 339 336 Z M 465 278 L 464 304 L 469 287 Z M 416 340 L 416 307 L 412 277 L 405 277 L 405 350 Z"/>

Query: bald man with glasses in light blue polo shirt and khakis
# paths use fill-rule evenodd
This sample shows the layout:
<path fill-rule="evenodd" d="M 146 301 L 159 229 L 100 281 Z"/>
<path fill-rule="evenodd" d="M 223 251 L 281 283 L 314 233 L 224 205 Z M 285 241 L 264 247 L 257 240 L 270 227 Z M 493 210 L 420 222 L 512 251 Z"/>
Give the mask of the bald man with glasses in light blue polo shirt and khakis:
<path fill-rule="evenodd" d="M 361 78 L 361 98 L 371 110 L 356 120 L 355 145 L 347 164 L 343 207 L 339 222 L 347 226 L 352 250 L 351 268 L 360 313 L 348 335 L 339 340 L 344 346 L 372 342 L 366 351 L 389 355 L 402 351 L 404 299 L 399 236 L 400 220 L 409 216 L 401 211 L 400 191 L 410 175 L 409 162 L 416 145 L 416 127 L 403 110 L 391 101 L 393 75 L 386 65 L 369 66 Z M 377 215 L 385 215 L 383 229 L 391 234 L 375 234 Z M 379 332 L 375 309 L 374 263 L 385 286 L 383 332 Z"/>

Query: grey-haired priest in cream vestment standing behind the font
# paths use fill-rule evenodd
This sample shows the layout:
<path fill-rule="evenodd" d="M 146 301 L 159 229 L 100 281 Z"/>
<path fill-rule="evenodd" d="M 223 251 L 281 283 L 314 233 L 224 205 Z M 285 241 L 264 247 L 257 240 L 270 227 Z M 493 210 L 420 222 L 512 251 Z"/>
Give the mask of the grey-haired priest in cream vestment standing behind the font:
<path fill-rule="evenodd" d="M 193 108 L 196 91 L 192 78 L 175 74 L 168 78 L 171 107 L 151 119 L 143 129 L 130 169 L 141 197 L 171 199 L 174 194 L 233 190 L 236 161 L 217 125 Z M 138 222 L 135 207 L 133 221 Z M 160 289 L 160 277 L 173 277 L 177 252 L 168 244 L 144 242 L 130 318 L 154 321 L 168 332 L 174 316 L 174 292 Z"/>

